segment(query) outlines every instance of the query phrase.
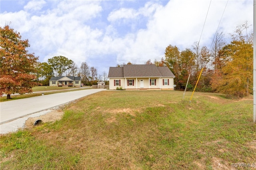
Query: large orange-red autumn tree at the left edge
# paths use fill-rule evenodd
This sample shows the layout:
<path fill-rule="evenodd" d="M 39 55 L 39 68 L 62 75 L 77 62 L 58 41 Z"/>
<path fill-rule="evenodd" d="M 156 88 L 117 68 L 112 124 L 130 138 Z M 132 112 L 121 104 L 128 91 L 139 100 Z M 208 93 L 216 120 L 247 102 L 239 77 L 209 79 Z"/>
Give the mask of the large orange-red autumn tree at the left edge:
<path fill-rule="evenodd" d="M 0 27 L 0 96 L 7 94 L 7 99 L 14 93 L 31 93 L 37 85 L 34 80 L 34 65 L 38 57 L 26 50 L 28 40 L 22 40 L 20 33 L 9 26 Z"/>

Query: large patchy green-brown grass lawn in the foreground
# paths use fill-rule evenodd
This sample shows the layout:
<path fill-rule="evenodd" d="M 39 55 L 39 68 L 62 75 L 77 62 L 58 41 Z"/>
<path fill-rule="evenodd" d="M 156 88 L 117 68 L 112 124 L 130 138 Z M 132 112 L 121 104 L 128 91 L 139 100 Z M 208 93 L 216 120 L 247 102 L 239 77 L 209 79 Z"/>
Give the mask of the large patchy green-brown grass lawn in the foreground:
<path fill-rule="evenodd" d="M 189 103 L 190 95 L 89 95 L 67 105 L 60 121 L 1 136 L 1 169 L 211 170 L 255 163 L 252 96 L 195 93 Z"/>

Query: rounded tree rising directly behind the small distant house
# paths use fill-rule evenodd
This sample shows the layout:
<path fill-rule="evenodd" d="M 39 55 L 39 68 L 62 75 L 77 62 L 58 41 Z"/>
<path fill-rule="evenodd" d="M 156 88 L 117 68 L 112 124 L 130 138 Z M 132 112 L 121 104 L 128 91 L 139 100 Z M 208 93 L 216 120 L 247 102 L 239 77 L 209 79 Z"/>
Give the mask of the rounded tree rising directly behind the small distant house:
<path fill-rule="evenodd" d="M 48 63 L 52 66 L 56 76 L 62 76 L 62 74 L 72 67 L 73 61 L 64 56 L 55 56 L 48 59 Z"/>

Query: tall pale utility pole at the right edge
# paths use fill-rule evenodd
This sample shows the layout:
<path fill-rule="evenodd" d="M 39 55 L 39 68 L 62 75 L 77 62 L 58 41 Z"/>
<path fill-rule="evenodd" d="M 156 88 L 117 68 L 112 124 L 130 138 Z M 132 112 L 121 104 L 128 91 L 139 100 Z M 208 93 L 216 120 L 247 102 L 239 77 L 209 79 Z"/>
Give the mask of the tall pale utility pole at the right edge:
<path fill-rule="evenodd" d="M 253 1 L 253 122 L 256 123 L 256 0 Z"/>

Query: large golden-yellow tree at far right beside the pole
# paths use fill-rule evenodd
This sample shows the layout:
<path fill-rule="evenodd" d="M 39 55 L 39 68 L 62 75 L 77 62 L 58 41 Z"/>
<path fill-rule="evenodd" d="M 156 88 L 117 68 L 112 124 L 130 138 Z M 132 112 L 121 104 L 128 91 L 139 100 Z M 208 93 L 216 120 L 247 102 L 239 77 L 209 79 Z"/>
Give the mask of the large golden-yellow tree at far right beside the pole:
<path fill-rule="evenodd" d="M 247 23 L 238 26 L 232 42 L 222 49 L 225 63 L 214 74 L 211 84 L 228 97 L 244 97 L 252 92 L 253 42 Z"/>

